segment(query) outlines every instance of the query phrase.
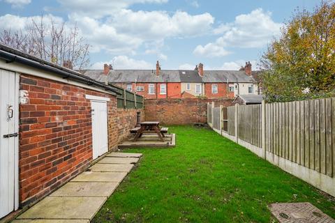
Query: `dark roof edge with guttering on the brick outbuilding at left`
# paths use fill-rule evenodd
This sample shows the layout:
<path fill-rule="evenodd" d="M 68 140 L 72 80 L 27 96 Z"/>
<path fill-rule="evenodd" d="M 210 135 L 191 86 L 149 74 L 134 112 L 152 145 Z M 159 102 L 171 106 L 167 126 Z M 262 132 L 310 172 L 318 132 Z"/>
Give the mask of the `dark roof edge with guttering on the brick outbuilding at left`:
<path fill-rule="evenodd" d="M 36 56 L 31 56 L 30 54 L 26 54 L 24 52 L 21 52 L 20 50 L 13 49 L 12 47 L 8 47 L 2 44 L 0 44 L 0 59 L 3 59 L 8 63 L 21 63 L 25 66 L 45 70 L 47 72 L 53 73 L 54 75 L 60 75 L 61 77 L 73 79 L 77 82 L 81 82 L 87 85 L 97 86 L 98 88 L 105 91 L 111 91 L 113 94 L 119 94 L 117 89 L 115 89 L 113 86 L 103 84 L 101 82 L 98 82 L 96 79 L 92 79 L 90 77 L 87 77 L 86 75 L 82 75 L 80 72 L 77 72 L 75 70 L 64 68 L 57 64 L 50 63 L 49 61 L 39 59 Z"/>

